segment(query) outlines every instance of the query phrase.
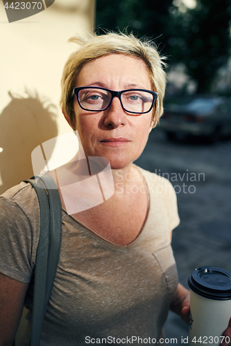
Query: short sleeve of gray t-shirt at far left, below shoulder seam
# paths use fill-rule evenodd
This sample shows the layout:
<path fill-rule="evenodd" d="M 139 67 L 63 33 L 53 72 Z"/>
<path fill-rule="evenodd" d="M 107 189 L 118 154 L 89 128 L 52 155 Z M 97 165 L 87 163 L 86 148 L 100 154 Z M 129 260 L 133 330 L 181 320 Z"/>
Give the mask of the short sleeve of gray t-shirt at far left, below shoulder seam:
<path fill-rule="evenodd" d="M 31 222 L 15 201 L 0 197 L 0 272 L 20 282 L 31 281 Z"/>

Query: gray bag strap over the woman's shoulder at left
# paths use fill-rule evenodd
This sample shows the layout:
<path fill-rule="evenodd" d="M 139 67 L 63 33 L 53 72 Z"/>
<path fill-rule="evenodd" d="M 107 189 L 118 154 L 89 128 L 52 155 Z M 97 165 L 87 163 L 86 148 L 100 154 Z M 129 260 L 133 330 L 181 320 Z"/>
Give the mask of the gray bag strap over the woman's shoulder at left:
<path fill-rule="evenodd" d="M 40 345 L 42 325 L 49 303 L 60 256 L 62 240 L 62 209 L 58 188 L 50 176 L 28 179 L 40 203 L 40 239 L 35 261 L 35 284 L 31 346 Z"/>

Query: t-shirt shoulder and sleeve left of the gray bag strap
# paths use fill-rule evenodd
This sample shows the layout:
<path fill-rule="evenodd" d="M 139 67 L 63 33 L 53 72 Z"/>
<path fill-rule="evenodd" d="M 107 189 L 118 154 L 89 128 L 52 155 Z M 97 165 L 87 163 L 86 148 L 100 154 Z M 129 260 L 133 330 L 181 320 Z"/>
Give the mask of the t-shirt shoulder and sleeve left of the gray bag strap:
<path fill-rule="evenodd" d="M 30 183 L 0 196 L 0 272 L 30 282 L 40 234 L 40 207 Z"/>

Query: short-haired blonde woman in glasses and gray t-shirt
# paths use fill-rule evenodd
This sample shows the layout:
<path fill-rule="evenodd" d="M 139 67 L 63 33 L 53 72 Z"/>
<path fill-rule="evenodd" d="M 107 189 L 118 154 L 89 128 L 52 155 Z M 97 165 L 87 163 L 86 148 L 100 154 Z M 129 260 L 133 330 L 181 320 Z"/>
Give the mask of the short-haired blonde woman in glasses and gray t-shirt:
<path fill-rule="evenodd" d="M 178 284 L 171 251 L 176 194 L 169 181 L 133 164 L 162 115 L 164 63 L 155 47 L 132 35 L 73 40 L 80 48 L 65 65 L 62 111 L 78 131 L 78 157 L 84 152 L 110 162 L 114 194 L 68 215 L 65 199 L 75 206 L 85 196 L 60 190 L 62 246 L 41 345 L 158 340 L 169 307 L 189 322 L 189 291 Z M 86 174 L 82 160 L 68 167 Z M 26 183 L 0 203 L 0 345 L 11 345 L 30 293 L 39 209 Z"/>

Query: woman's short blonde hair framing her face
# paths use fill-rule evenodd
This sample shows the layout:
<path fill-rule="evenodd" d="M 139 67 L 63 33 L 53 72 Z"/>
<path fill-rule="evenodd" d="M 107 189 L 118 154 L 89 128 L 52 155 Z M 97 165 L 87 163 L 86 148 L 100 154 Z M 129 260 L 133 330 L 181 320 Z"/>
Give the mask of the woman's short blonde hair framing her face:
<path fill-rule="evenodd" d="M 154 125 L 157 125 L 163 113 L 163 98 L 166 86 L 166 73 L 164 72 L 164 57 L 157 52 L 157 48 L 148 40 L 137 39 L 134 35 L 124 33 L 106 33 L 105 35 L 89 34 L 87 39 L 71 37 L 69 42 L 75 42 L 80 46 L 71 53 L 62 73 L 62 95 L 60 104 L 62 111 L 69 118 L 74 127 L 75 115 L 73 110 L 73 93 L 78 73 L 87 62 L 109 54 L 124 54 L 138 57 L 146 63 L 151 78 L 153 91 L 158 93 L 158 98 L 153 109 Z"/>

